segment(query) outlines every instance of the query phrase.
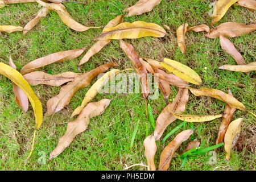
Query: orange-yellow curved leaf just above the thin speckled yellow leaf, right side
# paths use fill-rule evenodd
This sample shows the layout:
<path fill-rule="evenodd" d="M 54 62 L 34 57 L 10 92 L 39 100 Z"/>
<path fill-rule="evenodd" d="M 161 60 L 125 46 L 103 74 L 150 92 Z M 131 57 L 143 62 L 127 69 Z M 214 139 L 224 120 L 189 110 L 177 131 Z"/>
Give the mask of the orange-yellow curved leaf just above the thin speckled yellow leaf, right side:
<path fill-rule="evenodd" d="M 245 106 L 241 102 L 239 102 L 233 96 L 230 96 L 229 94 L 227 94 L 225 92 L 222 92 L 221 90 L 208 89 L 208 88 L 195 89 L 192 87 L 188 87 L 188 89 L 195 96 L 207 96 L 207 97 L 216 98 L 217 100 L 226 102 L 226 104 L 228 104 L 231 107 L 234 107 L 234 108 L 237 108 L 240 110 L 245 110 Z"/>

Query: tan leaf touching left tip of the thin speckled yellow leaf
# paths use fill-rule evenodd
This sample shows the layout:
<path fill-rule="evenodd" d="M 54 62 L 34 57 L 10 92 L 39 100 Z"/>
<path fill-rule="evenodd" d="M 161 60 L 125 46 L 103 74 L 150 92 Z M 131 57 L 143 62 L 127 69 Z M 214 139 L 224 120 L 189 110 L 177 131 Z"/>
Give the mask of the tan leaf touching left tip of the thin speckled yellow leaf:
<path fill-rule="evenodd" d="M 156 119 L 155 123 L 155 140 L 159 140 L 167 126 L 176 120 L 171 111 L 175 113 L 183 113 L 188 102 L 188 96 L 188 89 L 179 88 L 179 92 L 177 93 L 174 101 L 172 101 L 171 104 L 168 104 L 159 114 L 159 117 Z"/>

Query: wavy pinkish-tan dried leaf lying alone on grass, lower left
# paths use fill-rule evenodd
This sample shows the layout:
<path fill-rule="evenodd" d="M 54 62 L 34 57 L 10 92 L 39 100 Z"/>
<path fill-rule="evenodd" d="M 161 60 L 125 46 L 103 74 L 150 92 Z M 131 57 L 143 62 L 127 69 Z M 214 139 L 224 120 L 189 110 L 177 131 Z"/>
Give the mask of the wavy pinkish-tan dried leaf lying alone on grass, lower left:
<path fill-rule="evenodd" d="M 98 102 L 89 103 L 79 114 L 79 117 L 75 121 L 69 122 L 67 131 L 59 139 L 57 147 L 51 152 L 50 158 L 56 158 L 61 152 L 65 150 L 71 144 L 76 135 L 85 131 L 89 125 L 90 118 L 96 117 L 104 112 L 106 107 L 110 104 L 109 99 L 104 99 Z"/>

